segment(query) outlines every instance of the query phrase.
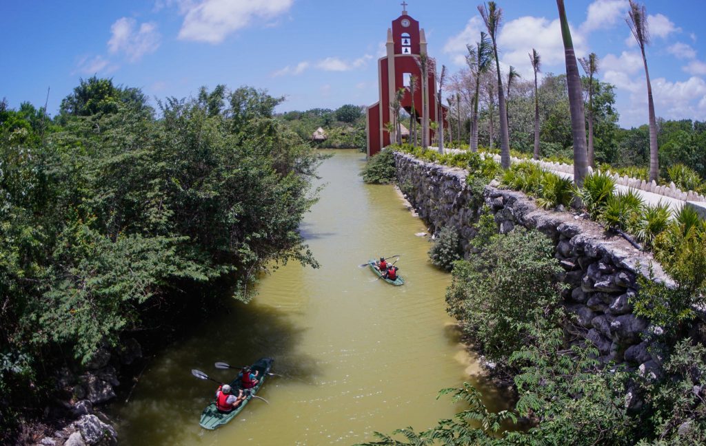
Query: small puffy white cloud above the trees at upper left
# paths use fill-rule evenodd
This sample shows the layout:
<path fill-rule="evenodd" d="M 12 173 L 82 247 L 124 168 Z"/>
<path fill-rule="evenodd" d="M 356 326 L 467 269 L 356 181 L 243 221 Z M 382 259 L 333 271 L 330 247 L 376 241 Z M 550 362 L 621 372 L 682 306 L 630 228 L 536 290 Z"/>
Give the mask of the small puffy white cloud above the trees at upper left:
<path fill-rule="evenodd" d="M 139 28 L 133 18 L 119 18 L 110 27 L 112 37 L 108 41 L 111 53 L 122 51 L 128 61 L 139 61 L 145 54 L 153 53 L 160 47 L 160 33 L 155 23 L 142 23 Z"/>

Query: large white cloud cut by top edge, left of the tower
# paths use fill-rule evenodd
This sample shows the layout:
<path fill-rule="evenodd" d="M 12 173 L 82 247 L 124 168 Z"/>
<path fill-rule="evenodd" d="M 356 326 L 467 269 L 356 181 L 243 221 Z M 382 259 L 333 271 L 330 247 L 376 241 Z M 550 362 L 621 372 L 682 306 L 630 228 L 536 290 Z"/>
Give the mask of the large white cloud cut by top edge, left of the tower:
<path fill-rule="evenodd" d="M 217 44 L 231 32 L 250 25 L 253 20 L 268 20 L 286 13 L 293 3 L 294 0 L 201 0 L 181 3 L 181 13 L 185 17 L 179 39 Z"/>

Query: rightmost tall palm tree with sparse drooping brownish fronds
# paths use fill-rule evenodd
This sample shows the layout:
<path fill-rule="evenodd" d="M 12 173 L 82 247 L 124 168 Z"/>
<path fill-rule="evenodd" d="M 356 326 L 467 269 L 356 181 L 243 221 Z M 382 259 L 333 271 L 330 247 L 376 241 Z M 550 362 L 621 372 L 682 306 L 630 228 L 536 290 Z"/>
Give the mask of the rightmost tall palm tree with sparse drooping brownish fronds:
<path fill-rule="evenodd" d="M 647 28 L 647 12 L 645 5 L 630 0 L 630 11 L 626 22 L 638 41 L 642 52 L 642 64 L 645 65 L 645 80 L 647 80 L 647 111 L 650 113 L 650 181 L 659 181 L 659 159 L 657 159 L 657 119 L 654 118 L 654 101 L 652 100 L 652 84 L 650 72 L 647 71 L 645 46 L 650 44 L 650 30 Z"/>

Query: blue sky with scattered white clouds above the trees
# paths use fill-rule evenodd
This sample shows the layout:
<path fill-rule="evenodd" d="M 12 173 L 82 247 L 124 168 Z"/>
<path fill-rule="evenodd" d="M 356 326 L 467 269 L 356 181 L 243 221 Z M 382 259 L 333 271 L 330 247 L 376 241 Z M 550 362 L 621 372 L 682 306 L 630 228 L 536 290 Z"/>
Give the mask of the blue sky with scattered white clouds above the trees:
<path fill-rule="evenodd" d="M 80 78 L 139 87 L 152 104 L 199 87 L 249 85 L 286 101 L 277 111 L 336 109 L 377 101 L 376 60 L 401 0 L 0 0 L 0 98 L 51 115 Z M 451 73 L 484 30 L 481 1 L 407 0 L 429 55 Z M 554 0 L 498 0 L 503 66 L 532 78 L 564 73 Z M 706 120 L 705 0 L 646 0 L 647 63 L 657 116 Z M 620 124 L 647 123 L 642 57 L 625 18 L 627 0 L 566 0 L 577 56 L 599 56 L 598 78 L 616 85 Z"/>

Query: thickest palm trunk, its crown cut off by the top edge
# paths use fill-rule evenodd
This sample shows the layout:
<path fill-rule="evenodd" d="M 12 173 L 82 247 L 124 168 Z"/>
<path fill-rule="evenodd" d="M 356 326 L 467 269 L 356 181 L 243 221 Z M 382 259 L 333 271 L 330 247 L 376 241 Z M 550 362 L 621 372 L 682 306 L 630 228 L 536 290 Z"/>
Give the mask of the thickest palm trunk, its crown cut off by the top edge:
<path fill-rule="evenodd" d="M 583 178 L 588 173 L 588 161 L 586 157 L 586 119 L 583 114 L 583 94 L 581 88 L 581 77 L 578 73 L 578 63 L 573 51 L 573 41 L 571 31 L 566 19 L 566 9 L 564 0 L 556 0 L 556 7 L 559 10 L 559 21 L 561 23 L 561 38 L 564 43 L 564 58 L 566 58 L 566 86 L 569 92 L 569 111 L 571 113 L 571 132 L 574 142 L 574 183 L 582 187 Z M 576 202 L 576 205 L 580 205 Z"/>

